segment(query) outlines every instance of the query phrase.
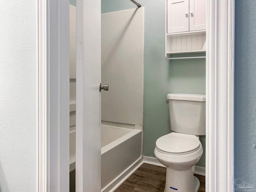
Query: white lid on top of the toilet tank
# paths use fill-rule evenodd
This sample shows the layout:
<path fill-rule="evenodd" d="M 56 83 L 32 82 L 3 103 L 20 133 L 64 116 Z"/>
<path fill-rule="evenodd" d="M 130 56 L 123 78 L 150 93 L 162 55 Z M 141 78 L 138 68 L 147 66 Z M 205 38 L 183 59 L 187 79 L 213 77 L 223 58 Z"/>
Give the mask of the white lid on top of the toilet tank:
<path fill-rule="evenodd" d="M 167 99 L 205 102 L 205 95 L 204 94 L 169 93 L 167 94 Z"/>

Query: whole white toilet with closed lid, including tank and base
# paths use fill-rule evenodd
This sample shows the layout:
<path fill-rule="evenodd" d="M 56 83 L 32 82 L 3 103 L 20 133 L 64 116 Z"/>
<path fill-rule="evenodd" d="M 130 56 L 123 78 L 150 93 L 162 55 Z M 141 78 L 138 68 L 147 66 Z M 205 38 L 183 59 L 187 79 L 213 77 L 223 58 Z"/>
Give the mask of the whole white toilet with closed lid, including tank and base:
<path fill-rule="evenodd" d="M 156 140 L 156 158 L 166 166 L 164 192 L 198 192 L 195 164 L 203 154 L 199 135 L 205 135 L 205 95 L 168 94 L 170 134 Z"/>

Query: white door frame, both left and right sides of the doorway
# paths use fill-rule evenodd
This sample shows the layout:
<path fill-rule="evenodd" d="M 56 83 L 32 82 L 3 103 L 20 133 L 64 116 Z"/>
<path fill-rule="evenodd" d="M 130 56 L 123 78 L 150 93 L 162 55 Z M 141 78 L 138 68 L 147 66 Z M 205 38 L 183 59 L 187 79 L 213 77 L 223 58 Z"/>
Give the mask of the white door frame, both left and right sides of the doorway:
<path fill-rule="evenodd" d="M 36 191 L 67 191 L 69 189 L 69 144 L 66 142 L 66 139 L 69 139 L 69 1 L 37 0 L 36 2 Z M 221 2 L 207 0 L 207 192 L 234 191 L 234 4 L 234 0 Z M 218 18 L 222 19 L 218 20 Z M 68 131 L 60 127 L 68 127 Z"/>

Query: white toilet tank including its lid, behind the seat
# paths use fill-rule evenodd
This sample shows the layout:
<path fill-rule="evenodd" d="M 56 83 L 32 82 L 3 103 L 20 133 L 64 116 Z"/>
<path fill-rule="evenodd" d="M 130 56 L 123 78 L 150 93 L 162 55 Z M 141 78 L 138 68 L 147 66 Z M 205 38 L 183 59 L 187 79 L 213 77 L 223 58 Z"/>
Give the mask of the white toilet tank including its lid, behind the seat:
<path fill-rule="evenodd" d="M 171 130 L 205 135 L 205 95 L 167 94 Z"/>

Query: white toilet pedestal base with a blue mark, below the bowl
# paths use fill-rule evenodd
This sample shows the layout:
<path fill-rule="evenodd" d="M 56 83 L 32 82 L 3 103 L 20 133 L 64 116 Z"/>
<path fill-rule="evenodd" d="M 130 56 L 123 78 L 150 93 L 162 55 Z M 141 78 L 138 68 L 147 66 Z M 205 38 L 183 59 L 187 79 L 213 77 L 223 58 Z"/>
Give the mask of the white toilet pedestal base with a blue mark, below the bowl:
<path fill-rule="evenodd" d="M 164 192 L 198 192 L 200 182 L 194 176 L 193 167 L 186 170 L 166 168 Z"/>

